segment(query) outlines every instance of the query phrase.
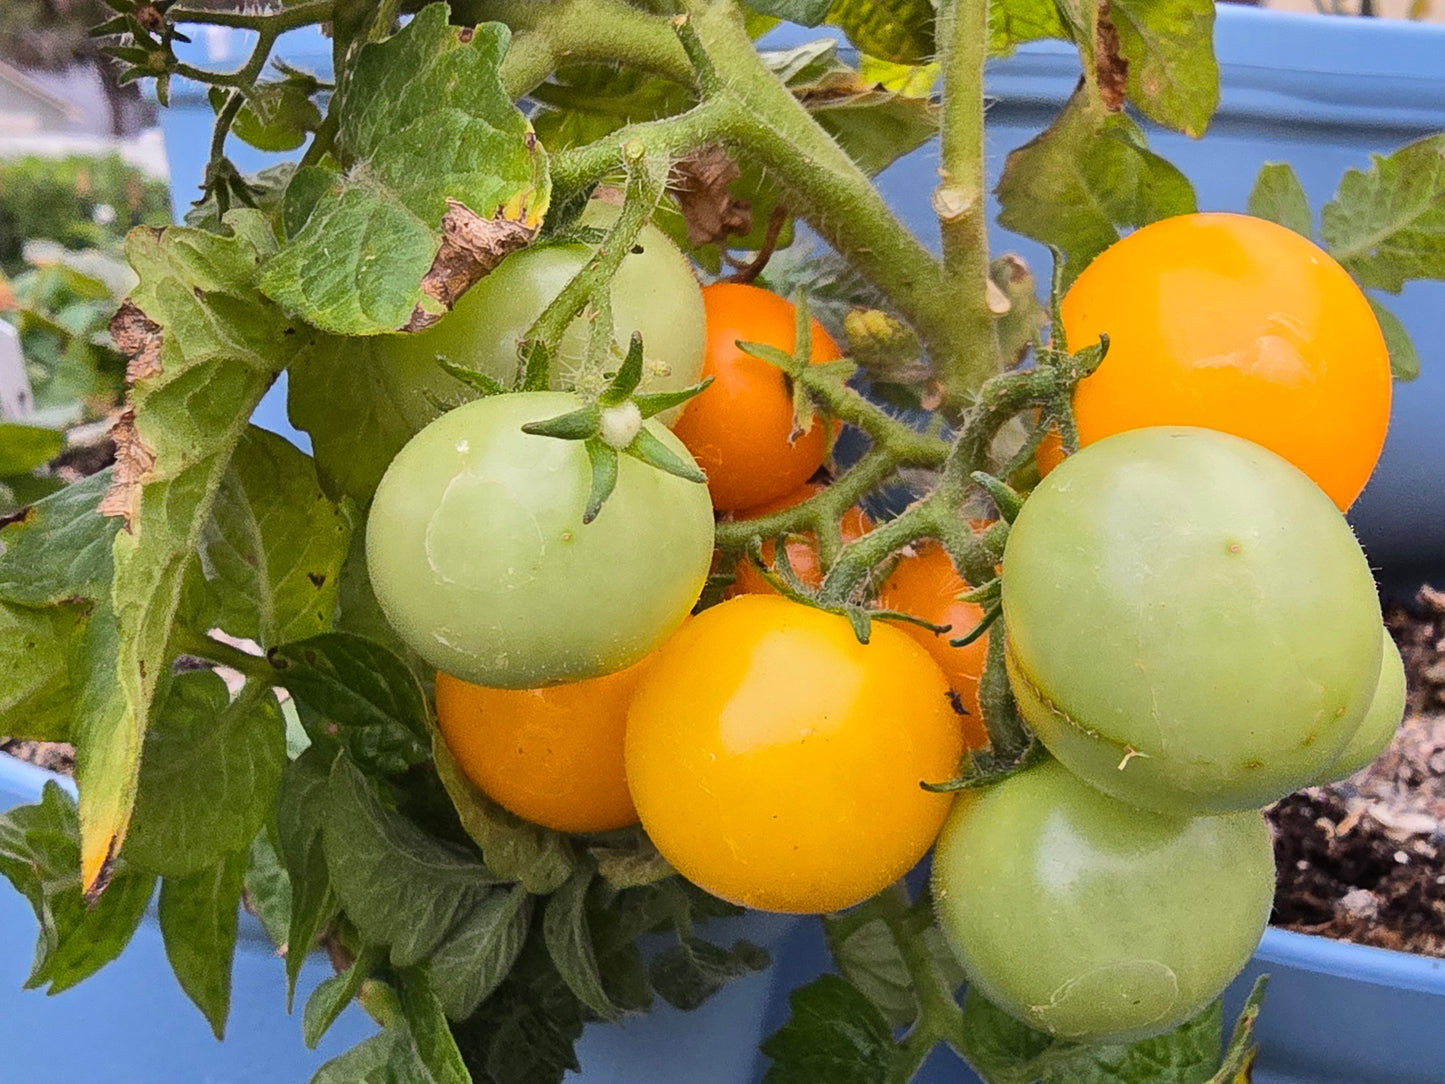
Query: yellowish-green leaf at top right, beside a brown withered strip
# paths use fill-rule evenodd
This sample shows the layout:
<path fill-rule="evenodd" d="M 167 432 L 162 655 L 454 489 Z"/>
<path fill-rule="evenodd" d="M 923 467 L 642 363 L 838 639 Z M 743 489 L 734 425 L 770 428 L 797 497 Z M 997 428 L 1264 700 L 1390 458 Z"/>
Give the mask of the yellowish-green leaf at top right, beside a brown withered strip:
<path fill-rule="evenodd" d="M 1130 103 L 1165 127 L 1202 136 L 1220 104 L 1214 0 L 1111 0 L 1108 17 L 1129 61 Z"/>

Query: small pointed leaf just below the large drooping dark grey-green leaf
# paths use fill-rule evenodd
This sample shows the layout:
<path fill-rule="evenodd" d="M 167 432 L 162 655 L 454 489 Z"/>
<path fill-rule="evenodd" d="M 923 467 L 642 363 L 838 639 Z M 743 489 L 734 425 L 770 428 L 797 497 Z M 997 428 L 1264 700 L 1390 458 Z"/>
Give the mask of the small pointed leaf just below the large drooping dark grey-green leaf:
<path fill-rule="evenodd" d="M 506 980 L 532 928 L 533 899 L 522 885 L 493 892 L 432 952 L 428 971 L 448 1018 L 471 1016 Z"/>

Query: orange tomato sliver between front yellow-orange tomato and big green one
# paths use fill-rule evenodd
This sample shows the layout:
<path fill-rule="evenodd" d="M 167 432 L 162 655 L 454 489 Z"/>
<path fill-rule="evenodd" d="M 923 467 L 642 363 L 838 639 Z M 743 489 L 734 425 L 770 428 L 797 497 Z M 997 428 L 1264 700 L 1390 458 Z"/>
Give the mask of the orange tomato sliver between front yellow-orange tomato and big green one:
<path fill-rule="evenodd" d="M 923 542 L 915 554 L 897 562 L 879 591 L 879 606 L 922 617 L 932 624 L 951 626 L 946 633 L 938 635 L 916 624 L 897 627 L 933 656 L 967 713 L 964 740 L 970 749 L 983 749 L 988 744 L 988 731 L 984 730 L 983 711 L 978 708 L 978 679 L 988 655 L 988 633 L 964 648 L 954 648 L 948 642 L 962 637 L 984 616 L 981 606 L 958 601 L 958 595 L 967 590 L 968 584 L 958 575 L 946 551 L 938 543 Z"/>

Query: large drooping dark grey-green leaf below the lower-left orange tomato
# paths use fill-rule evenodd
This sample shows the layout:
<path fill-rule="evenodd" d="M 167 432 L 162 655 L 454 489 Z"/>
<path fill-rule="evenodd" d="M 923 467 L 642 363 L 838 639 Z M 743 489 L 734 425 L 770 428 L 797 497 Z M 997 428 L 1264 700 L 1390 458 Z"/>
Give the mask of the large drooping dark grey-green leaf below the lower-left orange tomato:
<path fill-rule="evenodd" d="M 422 963 L 496 883 L 464 850 L 383 806 L 347 757 L 332 767 L 322 831 L 347 916 L 367 941 L 390 945 L 396 967 Z"/>

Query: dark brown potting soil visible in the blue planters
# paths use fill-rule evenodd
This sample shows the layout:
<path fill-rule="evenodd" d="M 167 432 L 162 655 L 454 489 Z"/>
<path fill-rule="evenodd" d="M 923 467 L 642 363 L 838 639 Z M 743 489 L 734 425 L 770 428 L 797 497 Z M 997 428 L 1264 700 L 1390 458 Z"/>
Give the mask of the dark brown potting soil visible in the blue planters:
<path fill-rule="evenodd" d="M 1392 607 L 1409 685 L 1405 723 L 1373 765 L 1267 809 L 1274 925 L 1445 957 L 1445 593 Z M 65 744 L 0 739 L 0 752 L 74 772 Z"/>

